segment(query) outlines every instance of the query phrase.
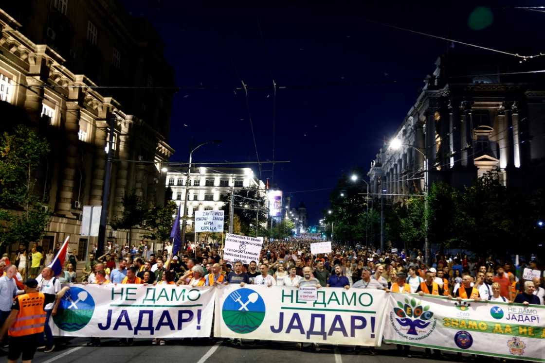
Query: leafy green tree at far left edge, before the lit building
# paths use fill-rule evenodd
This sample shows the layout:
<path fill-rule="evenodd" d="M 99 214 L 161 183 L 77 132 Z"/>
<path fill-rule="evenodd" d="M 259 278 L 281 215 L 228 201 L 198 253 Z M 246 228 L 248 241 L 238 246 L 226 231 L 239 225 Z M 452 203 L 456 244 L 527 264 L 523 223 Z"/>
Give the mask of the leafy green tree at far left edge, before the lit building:
<path fill-rule="evenodd" d="M 43 237 L 51 214 L 35 190 L 35 173 L 49 150 L 47 140 L 23 125 L 0 138 L 0 245 Z"/>

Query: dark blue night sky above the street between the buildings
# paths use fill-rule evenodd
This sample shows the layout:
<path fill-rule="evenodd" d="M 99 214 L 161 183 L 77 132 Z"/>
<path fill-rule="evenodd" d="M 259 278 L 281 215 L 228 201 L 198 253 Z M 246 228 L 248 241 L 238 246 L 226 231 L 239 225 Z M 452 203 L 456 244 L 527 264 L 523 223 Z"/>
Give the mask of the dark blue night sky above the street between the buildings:
<path fill-rule="evenodd" d="M 292 206 L 305 202 L 309 224 L 323 216 L 338 177 L 354 167 L 368 170 L 383 139 L 396 131 L 415 102 L 438 56 L 447 51 L 468 57 L 490 54 L 368 20 L 520 54 L 545 52 L 545 12 L 514 9 L 508 2 L 488 4 L 489 12 L 477 9 L 473 14 L 486 3 L 124 4 L 132 15 L 154 24 L 181 88 L 173 104 L 169 144 L 176 153 L 171 160 L 187 161 L 193 137 L 223 140 L 196 151 L 197 163 L 256 161 L 246 96 L 238 89 L 243 80 L 249 87 L 259 159 L 272 161 L 274 148 L 276 161 L 290 161 L 276 164 L 274 184 L 284 196 L 292 195 Z M 250 166 L 259 176 L 258 166 Z M 272 177 L 271 165 L 262 169 L 263 181 Z M 300 192 L 314 189 L 325 190 Z"/>

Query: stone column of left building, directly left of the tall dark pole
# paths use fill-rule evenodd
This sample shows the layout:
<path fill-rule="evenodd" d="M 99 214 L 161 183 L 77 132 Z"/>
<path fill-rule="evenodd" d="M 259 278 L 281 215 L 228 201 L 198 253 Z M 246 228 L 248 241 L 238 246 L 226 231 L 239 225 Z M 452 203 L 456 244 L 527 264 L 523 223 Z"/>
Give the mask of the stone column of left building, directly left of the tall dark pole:
<path fill-rule="evenodd" d="M 104 187 L 104 173 L 106 169 L 106 130 L 107 122 L 104 120 L 95 121 L 95 153 L 93 180 L 89 197 L 90 205 L 102 205 L 102 188 Z"/>

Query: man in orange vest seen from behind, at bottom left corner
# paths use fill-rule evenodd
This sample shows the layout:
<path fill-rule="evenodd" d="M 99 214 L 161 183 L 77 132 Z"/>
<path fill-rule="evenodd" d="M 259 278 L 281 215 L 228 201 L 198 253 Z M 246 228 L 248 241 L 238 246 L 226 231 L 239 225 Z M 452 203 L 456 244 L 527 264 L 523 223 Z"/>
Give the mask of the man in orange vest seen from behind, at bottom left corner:
<path fill-rule="evenodd" d="M 32 362 L 38 347 L 40 334 L 44 334 L 45 305 L 54 303 L 51 315 L 56 315 L 60 299 L 70 288 L 63 287 L 57 294 L 39 292 L 38 281 L 25 281 L 25 293 L 17 296 L 11 305 L 11 312 L 0 331 L 9 335 L 8 362 L 15 363 L 22 353 L 23 362 Z"/>

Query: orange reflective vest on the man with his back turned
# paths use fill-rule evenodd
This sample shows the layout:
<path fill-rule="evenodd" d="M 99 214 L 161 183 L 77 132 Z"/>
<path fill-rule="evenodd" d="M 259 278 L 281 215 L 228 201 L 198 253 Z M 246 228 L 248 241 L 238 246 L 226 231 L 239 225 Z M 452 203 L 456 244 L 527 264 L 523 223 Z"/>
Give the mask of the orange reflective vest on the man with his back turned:
<path fill-rule="evenodd" d="M 31 292 L 16 297 L 19 300 L 19 313 L 15 323 L 8 330 L 9 336 L 25 336 L 44 332 L 45 295 Z"/>

